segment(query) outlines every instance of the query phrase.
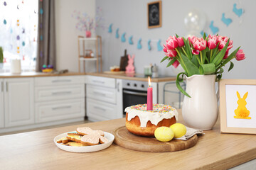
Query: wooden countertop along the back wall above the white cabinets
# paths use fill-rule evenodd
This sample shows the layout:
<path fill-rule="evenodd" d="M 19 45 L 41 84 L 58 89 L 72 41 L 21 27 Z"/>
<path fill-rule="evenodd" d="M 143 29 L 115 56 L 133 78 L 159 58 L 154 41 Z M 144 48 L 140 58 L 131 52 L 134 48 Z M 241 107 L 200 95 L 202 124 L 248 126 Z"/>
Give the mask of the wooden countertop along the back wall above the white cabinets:
<path fill-rule="evenodd" d="M 96 77 L 110 77 L 114 79 L 129 79 L 137 81 L 148 81 L 147 77 L 143 77 L 142 74 L 137 74 L 140 77 L 134 77 L 133 75 L 127 74 L 107 74 L 107 73 L 78 73 L 78 72 L 68 72 L 65 74 L 54 74 L 54 73 L 42 73 L 42 72 L 21 72 L 21 74 L 11 74 L 11 73 L 0 73 L 0 79 L 6 78 L 22 78 L 22 77 L 55 77 L 55 76 L 79 76 L 79 75 L 91 75 Z M 151 78 L 152 82 L 161 82 L 161 81 L 175 81 L 176 77 L 160 77 L 160 78 Z"/>

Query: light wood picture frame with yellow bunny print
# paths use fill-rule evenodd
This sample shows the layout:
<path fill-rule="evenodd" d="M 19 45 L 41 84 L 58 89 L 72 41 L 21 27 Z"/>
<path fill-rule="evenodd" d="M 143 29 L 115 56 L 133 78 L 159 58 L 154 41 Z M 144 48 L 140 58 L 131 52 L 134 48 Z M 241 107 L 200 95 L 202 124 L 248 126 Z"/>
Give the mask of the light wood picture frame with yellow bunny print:
<path fill-rule="evenodd" d="M 220 132 L 256 134 L 256 79 L 222 79 Z"/>

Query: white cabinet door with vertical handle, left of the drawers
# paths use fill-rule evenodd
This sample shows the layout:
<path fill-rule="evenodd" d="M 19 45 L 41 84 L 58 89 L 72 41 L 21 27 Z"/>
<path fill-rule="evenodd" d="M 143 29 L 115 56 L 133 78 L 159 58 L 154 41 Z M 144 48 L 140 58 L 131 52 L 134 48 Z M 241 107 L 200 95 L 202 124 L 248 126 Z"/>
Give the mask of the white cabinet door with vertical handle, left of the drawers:
<path fill-rule="evenodd" d="M 4 79 L 4 127 L 33 123 L 33 79 Z"/>

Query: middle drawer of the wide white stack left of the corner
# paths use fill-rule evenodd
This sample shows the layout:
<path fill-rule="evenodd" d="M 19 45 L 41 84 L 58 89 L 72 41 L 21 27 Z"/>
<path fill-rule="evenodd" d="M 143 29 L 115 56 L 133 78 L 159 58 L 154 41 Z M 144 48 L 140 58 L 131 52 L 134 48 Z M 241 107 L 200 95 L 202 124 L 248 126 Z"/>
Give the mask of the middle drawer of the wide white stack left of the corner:
<path fill-rule="evenodd" d="M 55 101 L 84 97 L 85 84 L 75 84 L 70 86 L 45 86 L 35 88 L 36 101 Z"/>

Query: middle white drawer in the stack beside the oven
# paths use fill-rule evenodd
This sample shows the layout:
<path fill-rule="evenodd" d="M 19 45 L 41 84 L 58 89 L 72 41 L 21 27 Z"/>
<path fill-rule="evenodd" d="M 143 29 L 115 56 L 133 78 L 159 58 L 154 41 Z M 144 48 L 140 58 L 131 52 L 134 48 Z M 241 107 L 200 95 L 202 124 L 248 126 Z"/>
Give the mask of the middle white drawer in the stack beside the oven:
<path fill-rule="evenodd" d="M 86 86 L 86 96 L 88 98 L 96 99 L 97 101 L 106 101 L 109 103 L 117 103 L 117 92 L 116 89 L 110 89 L 107 87 Z"/>

